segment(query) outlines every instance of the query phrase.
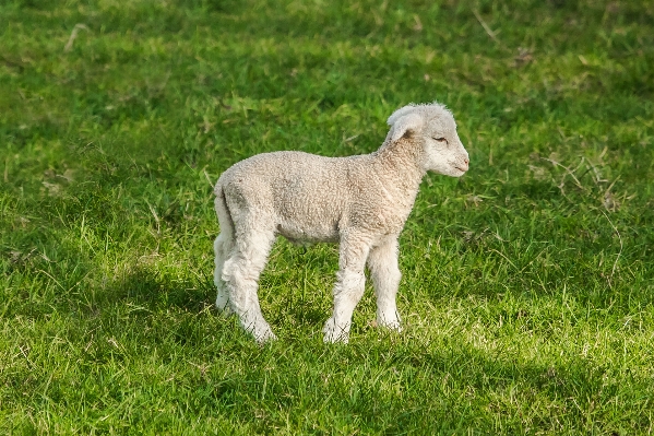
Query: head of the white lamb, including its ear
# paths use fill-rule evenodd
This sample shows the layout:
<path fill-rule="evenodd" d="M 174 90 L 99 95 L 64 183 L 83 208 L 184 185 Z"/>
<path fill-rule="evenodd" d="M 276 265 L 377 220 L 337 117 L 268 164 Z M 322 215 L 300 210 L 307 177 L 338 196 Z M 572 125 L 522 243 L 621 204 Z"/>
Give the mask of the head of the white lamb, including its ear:
<path fill-rule="evenodd" d="M 404 106 L 389 117 L 391 141 L 409 137 L 425 150 L 425 169 L 461 177 L 469 157 L 456 134 L 454 116 L 438 103 Z"/>

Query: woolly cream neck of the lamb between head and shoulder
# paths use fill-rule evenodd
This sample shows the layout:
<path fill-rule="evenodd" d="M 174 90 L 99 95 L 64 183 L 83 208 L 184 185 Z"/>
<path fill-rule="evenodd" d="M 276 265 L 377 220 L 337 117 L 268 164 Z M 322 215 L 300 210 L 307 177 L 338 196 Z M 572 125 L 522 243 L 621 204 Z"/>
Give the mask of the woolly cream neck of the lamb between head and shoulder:
<path fill-rule="evenodd" d="M 384 188 L 399 197 L 405 197 L 413 204 L 426 172 L 423 166 L 423 148 L 407 143 L 408 141 L 411 140 L 401 139 L 391 143 L 387 140 L 373 154 L 377 172 L 383 174 Z"/>

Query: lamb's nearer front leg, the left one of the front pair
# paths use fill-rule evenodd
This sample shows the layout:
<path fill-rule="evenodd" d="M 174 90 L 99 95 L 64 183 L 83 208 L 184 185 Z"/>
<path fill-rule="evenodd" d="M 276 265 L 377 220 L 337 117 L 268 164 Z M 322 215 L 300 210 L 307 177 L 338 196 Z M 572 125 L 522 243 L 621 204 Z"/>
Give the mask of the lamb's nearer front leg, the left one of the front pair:
<path fill-rule="evenodd" d="M 369 250 L 370 244 L 361 235 L 347 234 L 341 237 L 340 270 L 334 285 L 334 313 L 322 329 L 324 342 L 347 343 L 349 340 L 352 314 L 366 288 L 364 268 Z"/>

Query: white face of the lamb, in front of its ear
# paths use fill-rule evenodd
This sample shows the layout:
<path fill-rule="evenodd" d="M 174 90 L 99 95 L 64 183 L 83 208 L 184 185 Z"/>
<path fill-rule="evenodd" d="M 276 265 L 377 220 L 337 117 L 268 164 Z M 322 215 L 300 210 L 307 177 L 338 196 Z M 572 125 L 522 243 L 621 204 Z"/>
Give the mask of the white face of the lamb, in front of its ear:
<path fill-rule="evenodd" d="M 420 132 L 425 141 L 425 169 L 461 177 L 468 169 L 469 157 L 456 134 L 456 123 L 449 113 L 426 120 Z"/>

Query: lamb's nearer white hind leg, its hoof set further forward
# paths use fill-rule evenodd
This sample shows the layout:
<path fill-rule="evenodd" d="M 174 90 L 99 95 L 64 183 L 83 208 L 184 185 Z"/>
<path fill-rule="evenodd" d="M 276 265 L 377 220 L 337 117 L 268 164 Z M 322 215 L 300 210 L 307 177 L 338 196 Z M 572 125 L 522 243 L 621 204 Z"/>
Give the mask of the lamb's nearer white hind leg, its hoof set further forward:
<path fill-rule="evenodd" d="M 248 226 L 248 232 L 237 235 L 233 255 L 223 267 L 223 280 L 229 293 L 229 307 L 238 316 L 242 328 L 260 342 L 276 339 L 261 314 L 257 288 L 259 276 L 267 261 L 275 240 L 273 232 L 262 226 Z"/>

